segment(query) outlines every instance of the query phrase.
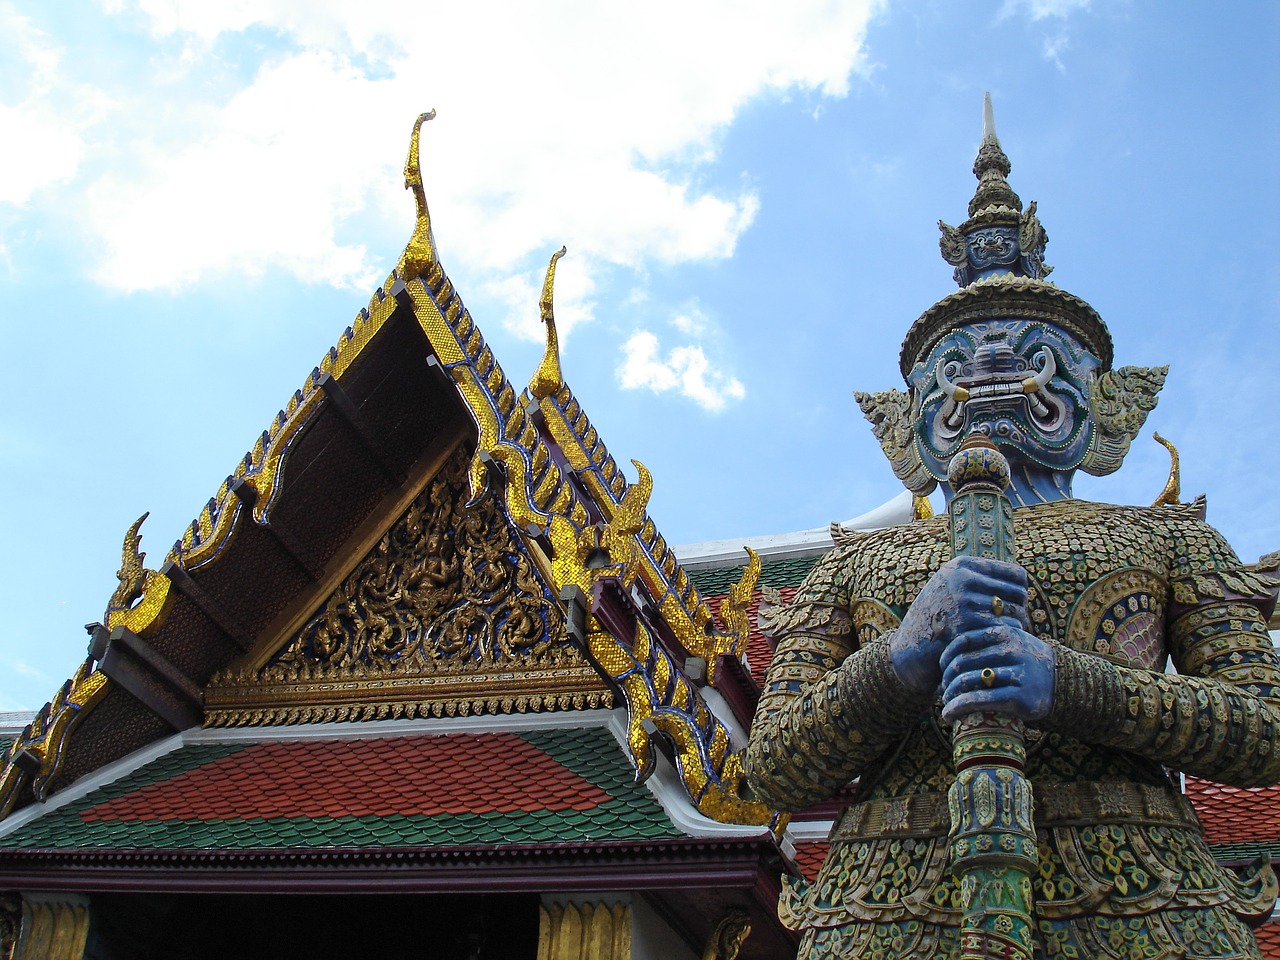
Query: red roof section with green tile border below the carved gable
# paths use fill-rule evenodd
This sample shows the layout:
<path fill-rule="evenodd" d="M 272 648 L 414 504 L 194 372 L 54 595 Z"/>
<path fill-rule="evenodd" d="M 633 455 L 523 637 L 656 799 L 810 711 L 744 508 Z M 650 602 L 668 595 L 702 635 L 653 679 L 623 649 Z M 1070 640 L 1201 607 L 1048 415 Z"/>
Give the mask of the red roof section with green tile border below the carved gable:
<path fill-rule="evenodd" d="M 594 727 L 197 740 L 0 836 L 0 850 L 457 847 L 678 836 L 654 795 L 636 785 L 614 737 Z"/>

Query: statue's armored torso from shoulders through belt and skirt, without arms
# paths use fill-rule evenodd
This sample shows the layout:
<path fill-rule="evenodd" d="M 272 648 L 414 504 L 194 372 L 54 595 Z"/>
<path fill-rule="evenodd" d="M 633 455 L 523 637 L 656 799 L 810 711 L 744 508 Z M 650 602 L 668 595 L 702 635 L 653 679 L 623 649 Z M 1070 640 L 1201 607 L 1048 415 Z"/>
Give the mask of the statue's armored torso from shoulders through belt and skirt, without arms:
<path fill-rule="evenodd" d="M 1234 562 L 1189 506 L 1068 500 L 1019 509 L 1015 524 L 1033 632 L 1125 667 L 1165 668 L 1171 580 Z M 946 517 L 852 535 L 815 568 L 809 588 L 847 604 L 861 646 L 897 626 L 950 556 Z M 831 582 L 813 582 L 823 577 Z M 1037 795 L 1042 919 L 1125 916 L 1243 896 L 1213 863 L 1194 813 L 1158 763 L 1030 730 L 1027 769 Z M 863 773 L 856 803 L 833 829 L 827 865 L 814 884 L 783 897 L 783 913 L 817 927 L 956 923 L 945 801 L 952 776 L 936 707 Z"/>

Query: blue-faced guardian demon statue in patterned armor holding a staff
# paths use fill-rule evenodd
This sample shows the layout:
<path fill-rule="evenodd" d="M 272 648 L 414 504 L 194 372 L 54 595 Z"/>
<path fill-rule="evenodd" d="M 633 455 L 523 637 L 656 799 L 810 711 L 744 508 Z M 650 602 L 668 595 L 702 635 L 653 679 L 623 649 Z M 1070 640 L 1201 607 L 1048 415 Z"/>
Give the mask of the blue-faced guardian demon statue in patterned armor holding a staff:
<path fill-rule="evenodd" d="M 1009 169 L 988 101 L 969 219 L 941 224 L 961 289 L 908 332 L 909 392 L 859 396 L 950 515 L 837 531 L 762 613 L 756 796 L 795 810 L 858 780 L 780 911 L 801 957 L 1257 957 L 1275 876 L 1213 860 L 1178 773 L 1280 780 L 1274 584 L 1202 502 L 1071 497 L 1076 470 L 1119 468 L 1165 369 L 1112 367 Z"/>

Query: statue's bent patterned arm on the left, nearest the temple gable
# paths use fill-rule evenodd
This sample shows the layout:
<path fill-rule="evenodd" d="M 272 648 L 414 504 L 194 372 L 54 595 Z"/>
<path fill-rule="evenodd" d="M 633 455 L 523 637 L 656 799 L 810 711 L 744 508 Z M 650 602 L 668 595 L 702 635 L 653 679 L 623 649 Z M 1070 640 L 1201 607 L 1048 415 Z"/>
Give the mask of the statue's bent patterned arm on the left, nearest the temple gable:
<path fill-rule="evenodd" d="M 829 566 L 836 562 L 819 562 L 786 611 L 788 626 L 751 724 L 751 788 L 781 810 L 829 797 L 900 739 L 932 699 L 897 678 L 887 639 L 856 649 L 841 571 Z"/>

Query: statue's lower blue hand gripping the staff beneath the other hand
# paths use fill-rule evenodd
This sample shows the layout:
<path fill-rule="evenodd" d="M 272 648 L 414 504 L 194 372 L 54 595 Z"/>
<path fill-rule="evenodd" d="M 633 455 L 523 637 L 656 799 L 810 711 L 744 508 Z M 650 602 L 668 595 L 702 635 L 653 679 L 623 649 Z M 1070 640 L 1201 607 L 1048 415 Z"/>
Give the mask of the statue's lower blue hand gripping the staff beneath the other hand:
<path fill-rule="evenodd" d="M 968 713 L 1007 713 L 1024 721 L 1048 716 L 1057 653 L 1025 630 L 1025 596 L 1024 590 L 1016 605 L 988 598 L 988 608 L 1004 607 L 1000 616 L 992 612 L 992 622 L 957 631 L 946 645 L 940 659 L 943 719 Z"/>

